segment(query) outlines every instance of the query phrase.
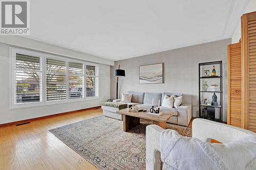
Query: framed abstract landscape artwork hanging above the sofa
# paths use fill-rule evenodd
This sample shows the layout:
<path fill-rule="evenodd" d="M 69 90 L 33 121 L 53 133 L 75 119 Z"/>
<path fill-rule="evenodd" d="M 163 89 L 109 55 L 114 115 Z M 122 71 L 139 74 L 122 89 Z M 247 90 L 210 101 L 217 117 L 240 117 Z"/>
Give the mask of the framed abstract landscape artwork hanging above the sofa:
<path fill-rule="evenodd" d="M 163 63 L 139 66 L 140 84 L 163 83 Z"/>

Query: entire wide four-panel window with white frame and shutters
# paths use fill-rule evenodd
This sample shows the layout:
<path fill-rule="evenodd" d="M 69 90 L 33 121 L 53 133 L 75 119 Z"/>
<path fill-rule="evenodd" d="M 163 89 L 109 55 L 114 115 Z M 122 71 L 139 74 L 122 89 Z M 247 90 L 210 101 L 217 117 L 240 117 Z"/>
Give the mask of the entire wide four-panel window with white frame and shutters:
<path fill-rule="evenodd" d="M 11 109 L 98 96 L 97 64 L 18 48 L 11 54 Z"/>

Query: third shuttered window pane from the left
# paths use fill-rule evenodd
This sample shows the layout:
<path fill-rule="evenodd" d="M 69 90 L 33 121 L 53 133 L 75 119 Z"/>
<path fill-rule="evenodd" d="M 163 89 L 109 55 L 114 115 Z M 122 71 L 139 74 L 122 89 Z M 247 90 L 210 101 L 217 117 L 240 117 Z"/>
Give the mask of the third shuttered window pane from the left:
<path fill-rule="evenodd" d="M 83 64 L 69 62 L 69 99 L 83 98 Z"/>

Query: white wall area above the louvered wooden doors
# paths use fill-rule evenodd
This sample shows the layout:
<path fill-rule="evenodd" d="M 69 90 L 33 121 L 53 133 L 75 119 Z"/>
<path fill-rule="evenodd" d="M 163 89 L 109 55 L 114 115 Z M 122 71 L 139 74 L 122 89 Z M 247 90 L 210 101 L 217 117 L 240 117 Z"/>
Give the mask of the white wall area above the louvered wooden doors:
<path fill-rule="evenodd" d="M 256 11 L 256 0 L 250 0 L 244 11 L 244 14 L 249 12 L 254 12 L 254 11 Z M 241 38 L 241 20 L 239 21 L 238 26 L 231 37 L 231 41 L 232 43 L 236 43 L 239 41 L 240 38 Z"/>

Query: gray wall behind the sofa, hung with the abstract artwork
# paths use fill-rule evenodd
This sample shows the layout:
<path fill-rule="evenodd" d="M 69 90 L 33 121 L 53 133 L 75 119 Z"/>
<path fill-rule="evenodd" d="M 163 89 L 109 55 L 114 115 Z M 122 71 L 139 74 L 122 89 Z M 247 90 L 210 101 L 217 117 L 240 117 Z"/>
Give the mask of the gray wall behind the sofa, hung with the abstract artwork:
<path fill-rule="evenodd" d="M 119 96 L 127 91 L 148 92 L 182 92 L 184 102 L 193 105 L 193 116 L 198 116 L 198 63 L 223 61 L 223 121 L 227 120 L 227 44 L 231 39 L 204 43 L 176 50 L 120 60 L 111 66 L 111 98 L 116 96 L 116 78 L 114 69 L 120 64 L 125 69 L 125 78 L 119 78 Z M 139 84 L 139 66 L 154 63 L 164 63 L 163 84 Z M 203 68 L 203 69 L 212 69 Z M 218 74 L 219 68 L 217 68 Z M 215 82 L 207 80 L 209 86 Z M 211 101 L 211 95 L 204 95 Z M 218 100 L 219 100 L 218 96 Z"/>

